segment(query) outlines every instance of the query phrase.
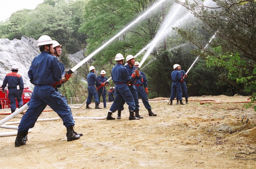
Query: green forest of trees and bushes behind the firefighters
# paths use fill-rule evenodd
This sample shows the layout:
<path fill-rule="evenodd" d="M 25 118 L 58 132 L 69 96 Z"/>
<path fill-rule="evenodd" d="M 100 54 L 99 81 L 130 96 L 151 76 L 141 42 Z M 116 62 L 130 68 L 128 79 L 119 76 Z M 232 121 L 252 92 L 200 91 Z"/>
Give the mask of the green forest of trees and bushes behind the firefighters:
<path fill-rule="evenodd" d="M 60 60 L 70 69 L 76 63 L 70 61 L 68 53 L 84 50 L 86 58 L 156 2 L 158 0 L 44 0 L 34 10 L 17 11 L 0 22 L 0 38 L 21 39 L 25 35 L 38 39 L 49 35 L 62 44 Z M 136 57 L 140 62 L 147 50 L 142 49 L 156 36 L 177 3 L 183 9 L 176 17 L 176 24 L 170 25 L 141 67 L 148 79 L 148 98 L 170 97 L 173 65 L 179 64 L 187 71 L 197 56 L 199 59 L 186 80 L 189 96 L 254 94 L 256 2 L 166 0 L 77 69 L 61 88 L 66 97 L 78 97 L 84 102 L 87 88 L 84 80 L 90 65 L 99 72 L 104 69 L 109 78 L 116 64 L 116 53 L 126 57 L 143 51 Z M 216 37 L 205 48 L 214 34 Z M 110 86 L 114 86 L 112 81 Z"/>

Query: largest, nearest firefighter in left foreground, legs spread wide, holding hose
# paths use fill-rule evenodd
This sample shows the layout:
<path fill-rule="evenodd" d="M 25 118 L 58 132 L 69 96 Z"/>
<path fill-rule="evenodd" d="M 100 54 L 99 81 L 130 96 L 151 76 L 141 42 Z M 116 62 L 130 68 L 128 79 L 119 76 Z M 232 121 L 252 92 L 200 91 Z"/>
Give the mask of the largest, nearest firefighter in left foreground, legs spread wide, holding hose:
<path fill-rule="evenodd" d="M 28 77 L 30 82 L 35 85 L 30 100 L 28 110 L 22 116 L 18 126 L 18 134 L 15 140 L 15 147 L 25 145 L 24 134 L 30 128 L 33 128 L 36 120 L 40 116 L 45 104 L 56 112 L 63 120 L 63 125 L 67 129 L 67 141 L 78 140 L 80 135 L 74 134 L 74 119 L 70 108 L 53 87 L 55 82 L 62 82 L 62 70 L 58 64 L 58 59 L 50 53 L 54 53 L 52 39 L 47 35 L 42 35 L 38 39 L 38 45 L 41 53 L 37 55 L 30 66 Z M 71 74 L 66 74 L 64 81 L 68 81 Z"/>

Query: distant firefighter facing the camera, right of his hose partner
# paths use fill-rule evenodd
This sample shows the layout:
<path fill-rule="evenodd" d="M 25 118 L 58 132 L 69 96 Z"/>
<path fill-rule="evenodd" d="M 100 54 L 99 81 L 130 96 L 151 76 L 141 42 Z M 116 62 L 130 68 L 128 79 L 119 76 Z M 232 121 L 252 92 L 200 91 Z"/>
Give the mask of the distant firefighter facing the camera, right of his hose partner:
<path fill-rule="evenodd" d="M 102 71 L 100 72 L 100 76 L 97 77 L 97 79 L 98 79 L 98 81 L 99 81 L 100 83 L 105 83 L 105 82 L 108 80 L 108 78 L 107 78 L 105 75 L 106 75 L 106 72 L 105 72 L 104 70 L 102 70 Z M 105 83 L 105 86 L 108 86 L 108 84 L 109 84 L 108 82 Z M 100 102 L 100 96 L 102 95 L 104 108 L 107 107 L 107 100 L 106 100 L 107 90 L 106 90 L 106 87 L 105 87 L 105 86 L 101 87 L 101 88 L 98 90 L 99 102 Z M 97 86 L 97 87 L 99 87 L 99 86 Z"/>

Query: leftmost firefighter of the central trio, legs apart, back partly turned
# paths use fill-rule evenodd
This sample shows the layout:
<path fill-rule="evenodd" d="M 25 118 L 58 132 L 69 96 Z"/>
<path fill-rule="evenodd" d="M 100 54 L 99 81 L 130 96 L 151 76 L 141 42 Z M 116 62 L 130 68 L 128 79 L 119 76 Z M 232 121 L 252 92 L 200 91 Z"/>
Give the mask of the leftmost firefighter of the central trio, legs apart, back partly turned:
<path fill-rule="evenodd" d="M 127 69 L 122 65 L 124 63 L 124 57 L 121 53 L 116 54 L 115 61 L 117 64 L 112 68 L 111 73 L 112 80 L 116 84 L 115 100 L 108 111 L 107 120 L 115 120 L 115 118 L 112 117 L 112 113 L 120 108 L 123 100 L 128 104 L 130 112 L 129 120 L 139 120 L 140 118 L 134 116 L 134 98 L 129 87 L 126 85 L 126 83 L 135 78 L 136 75 L 132 74 L 132 76 L 130 76 L 128 74 Z M 138 71 L 136 71 L 136 73 L 138 73 Z"/>

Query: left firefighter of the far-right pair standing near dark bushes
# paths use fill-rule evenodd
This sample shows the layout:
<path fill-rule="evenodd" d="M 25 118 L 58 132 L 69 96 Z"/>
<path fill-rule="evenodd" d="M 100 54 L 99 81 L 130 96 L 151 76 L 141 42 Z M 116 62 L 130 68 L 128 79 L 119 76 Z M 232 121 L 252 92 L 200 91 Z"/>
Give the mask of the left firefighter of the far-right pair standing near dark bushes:
<path fill-rule="evenodd" d="M 180 71 L 178 71 L 178 67 L 180 65 L 175 64 L 173 65 L 174 71 L 172 71 L 172 93 L 170 97 L 171 105 L 172 105 L 172 100 L 174 100 L 176 94 L 178 94 L 178 100 L 180 100 L 180 104 L 184 105 L 182 102 L 182 90 L 181 90 L 181 74 Z"/>

